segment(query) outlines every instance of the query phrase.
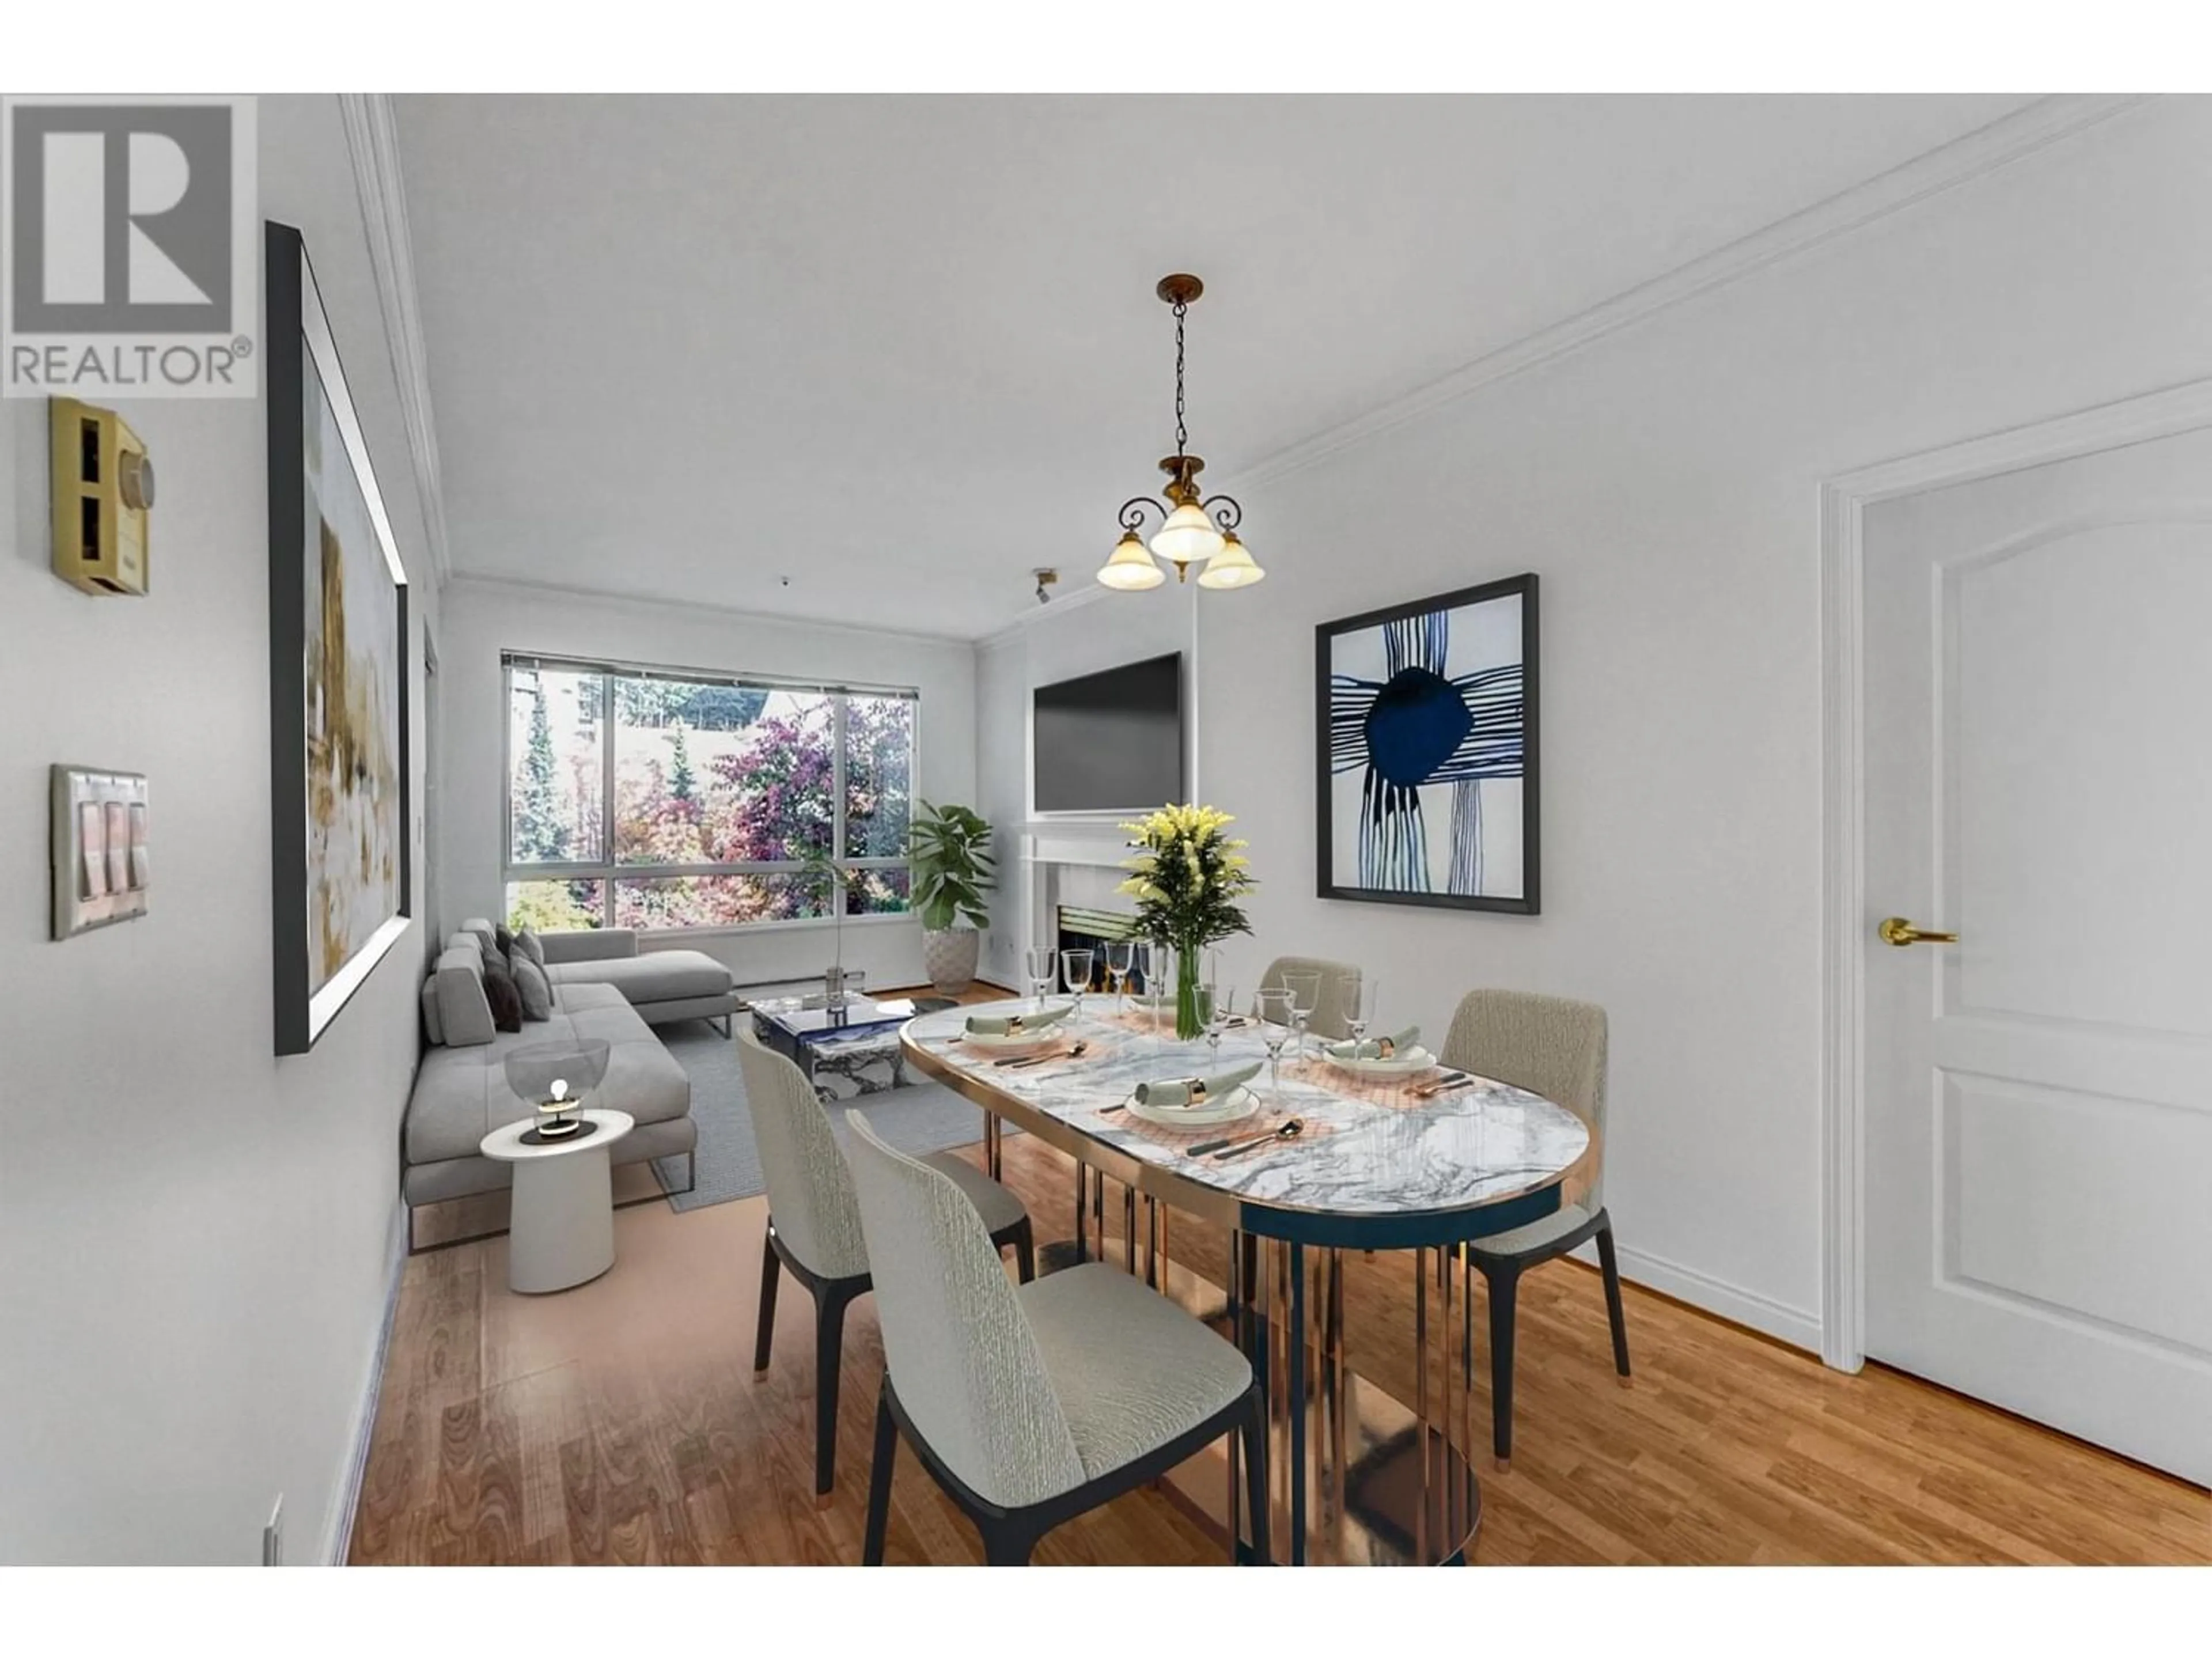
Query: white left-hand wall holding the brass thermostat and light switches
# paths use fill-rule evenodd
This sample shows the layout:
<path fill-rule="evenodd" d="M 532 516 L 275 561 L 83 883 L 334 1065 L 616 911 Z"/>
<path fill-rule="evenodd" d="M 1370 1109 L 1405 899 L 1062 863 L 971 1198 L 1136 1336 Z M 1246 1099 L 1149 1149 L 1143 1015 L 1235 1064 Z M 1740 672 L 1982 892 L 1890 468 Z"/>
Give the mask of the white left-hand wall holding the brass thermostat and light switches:
<path fill-rule="evenodd" d="M 434 619 L 334 97 L 261 100 L 261 210 L 307 237 Z M 51 575 L 46 409 L 0 403 L 0 1559 L 257 1562 L 279 1493 L 316 1559 L 389 1285 L 422 927 L 272 1055 L 263 405 L 119 407 L 161 476 L 146 599 Z M 420 763 L 420 633 L 414 659 Z M 46 938 L 53 761 L 148 774 L 144 920 Z"/>

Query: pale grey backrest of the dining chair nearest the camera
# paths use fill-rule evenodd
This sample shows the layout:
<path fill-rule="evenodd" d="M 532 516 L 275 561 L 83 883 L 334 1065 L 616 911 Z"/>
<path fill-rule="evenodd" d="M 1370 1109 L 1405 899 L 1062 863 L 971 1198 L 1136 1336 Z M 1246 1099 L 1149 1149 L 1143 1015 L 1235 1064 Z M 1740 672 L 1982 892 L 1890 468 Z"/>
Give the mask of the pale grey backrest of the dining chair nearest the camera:
<path fill-rule="evenodd" d="M 845 1124 L 885 1367 L 914 1431 L 1002 1509 L 1073 1491 L 1084 1482 L 1075 1433 L 973 1201 L 885 1146 L 860 1113 Z"/>

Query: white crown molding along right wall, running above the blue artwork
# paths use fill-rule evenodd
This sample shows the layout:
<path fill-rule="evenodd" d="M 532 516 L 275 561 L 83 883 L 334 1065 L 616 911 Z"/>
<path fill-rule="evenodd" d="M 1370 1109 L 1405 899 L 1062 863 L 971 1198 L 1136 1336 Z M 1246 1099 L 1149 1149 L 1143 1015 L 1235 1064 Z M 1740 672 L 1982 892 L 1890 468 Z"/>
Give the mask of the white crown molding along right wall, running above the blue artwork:
<path fill-rule="evenodd" d="M 1239 467 L 1230 482 L 1239 489 L 1265 484 L 1294 471 L 1303 471 L 1340 449 L 1352 449 L 1371 438 L 1380 438 L 1409 420 L 1469 398 L 1475 392 L 1526 374 L 1544 363 L 1579 352 L 1584 345 L 1601 341 L 1632 323 L 1641 323 L 1674 305 L 1683 305 L 1701 294 L 1710 294 L 1725 283 L 1734 283 L 1767 265 L 1820 248 L 1838 237 L 1847 237 L 1878 219 L 1902 212 L 1944 190 L 1986 177 L 2037 150 L 2084 133 L 2115 115 L 2150 104 L 2150 95 L 2090 95 L 2066 93 L 2039 97 L 2026 108 L 2017 108 L 1989 126 L 1918 155 L 1889 173 L 1878 173 L 1865 184 L 1856 184 L 1825 201 L 1818 201 L 1787 219 L 1776 219 L 1763 230 L 1754 230 L 1739 241 L 1701 254 L 1686 265 L 1677 265 L 1663 276 L 1615 294 L 1577 316 L 1526 334 L 1513 345 L 1504 345 L 1486 356 L 1467 363 L 1451 374 L 1394 398 L 1363 416 L 1301 438 L 1287 449 Z"/>

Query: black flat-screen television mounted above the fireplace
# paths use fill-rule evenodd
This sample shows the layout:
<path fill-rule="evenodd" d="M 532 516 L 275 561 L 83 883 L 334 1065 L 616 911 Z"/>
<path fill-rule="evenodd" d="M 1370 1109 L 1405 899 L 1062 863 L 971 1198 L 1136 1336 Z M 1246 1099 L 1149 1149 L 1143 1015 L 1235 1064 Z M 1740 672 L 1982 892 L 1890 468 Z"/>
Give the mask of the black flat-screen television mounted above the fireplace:
<path fill-rule="evenodd" d="M 1146 812 L 1183 799 L 1183 655 L 1037 686 L 1037 812 Z"/>

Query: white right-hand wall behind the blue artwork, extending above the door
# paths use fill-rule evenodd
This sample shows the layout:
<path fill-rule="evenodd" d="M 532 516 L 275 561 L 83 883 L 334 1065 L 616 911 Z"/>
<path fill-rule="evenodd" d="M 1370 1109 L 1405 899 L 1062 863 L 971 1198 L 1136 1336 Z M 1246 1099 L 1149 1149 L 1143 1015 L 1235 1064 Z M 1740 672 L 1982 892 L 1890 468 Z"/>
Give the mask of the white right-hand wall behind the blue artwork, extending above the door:
<path fill-rule="evenodd" d="M 1431 1031 L 1475 984 L 1604 1002 L 1626 1270 L 1812 1345 L 1818 484 L 2212 374 L 2205 157 L 2212 102 L 2166 100 L 1241 487 L 1270 577 L 1201 597 L 1199 684 L 1203 792 L 1265 880 L 1243 971 L 1349 958 Z M 1544 916 L 1314 898 L 1314 624 L 1515 571 L 1544 584 Z M 1068 624 L 1146 655 L 1115 604 Z M 1004 801 L 1022 759 L 984 723 Z"/>

